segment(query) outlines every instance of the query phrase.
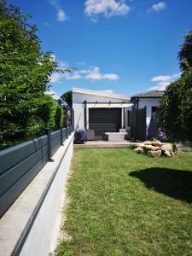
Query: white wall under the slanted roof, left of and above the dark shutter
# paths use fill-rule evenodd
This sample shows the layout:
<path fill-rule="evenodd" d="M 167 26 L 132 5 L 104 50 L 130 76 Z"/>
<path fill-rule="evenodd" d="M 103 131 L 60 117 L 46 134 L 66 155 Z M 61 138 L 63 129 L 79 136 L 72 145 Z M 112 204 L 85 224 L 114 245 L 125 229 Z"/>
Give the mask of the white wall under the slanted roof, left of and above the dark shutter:
<path fill-rule="evenodd" d="M 113 96 L 97 96 L 89 95 L 73 91 L 73 110 L 74 110 L 74 125 L 76 127 L 84 127 L 84 104 L 83 102 L 130 102 L 124 98 L 115 98 Z M 87 108 L 87 128 L 89 128 L 89 111 Z"/>

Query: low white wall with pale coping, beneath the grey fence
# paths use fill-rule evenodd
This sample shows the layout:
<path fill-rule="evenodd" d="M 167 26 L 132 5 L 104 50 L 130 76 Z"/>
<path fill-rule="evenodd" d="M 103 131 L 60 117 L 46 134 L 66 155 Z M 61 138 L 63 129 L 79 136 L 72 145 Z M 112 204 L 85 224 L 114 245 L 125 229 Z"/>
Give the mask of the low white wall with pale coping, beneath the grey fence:
<path fill-rule="evenodd" d="M 55 247 L 73 133 L 0 220 L 0 255 L 47 256 Z"/>

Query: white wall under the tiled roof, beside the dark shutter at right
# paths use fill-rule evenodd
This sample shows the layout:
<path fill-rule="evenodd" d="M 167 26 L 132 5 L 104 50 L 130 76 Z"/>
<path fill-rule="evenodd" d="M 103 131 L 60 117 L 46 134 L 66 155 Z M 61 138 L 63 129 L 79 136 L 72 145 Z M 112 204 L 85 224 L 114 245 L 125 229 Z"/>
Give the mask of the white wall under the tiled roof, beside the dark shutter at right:
<path fill-rule="evenodd" d="M 138 108 L 144 108 L 146 107 L 147 108 L 147 113 L 146 113 L 146 123 L 147 123 L 147 128 L 148 128 L 148 125 L 150 123 L 150 119 L 151 119 L 151 108 L 152 107 L 159 107 L 160 106 L 160 99 L 159 98 L 154 98 L 154 99 L 149 99 L 149 98 L 146 98 L 146 99 L 139 99 L 139 102 L 138 102 Z"/>

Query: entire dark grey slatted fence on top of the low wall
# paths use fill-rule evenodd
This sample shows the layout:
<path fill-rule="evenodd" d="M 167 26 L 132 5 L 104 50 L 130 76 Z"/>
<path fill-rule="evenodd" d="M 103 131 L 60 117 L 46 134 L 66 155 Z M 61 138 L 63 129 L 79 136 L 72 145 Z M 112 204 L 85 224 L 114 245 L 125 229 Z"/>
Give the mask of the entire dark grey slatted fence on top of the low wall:
<path fill-rule="evenodd" d="M 68 128 L 68 135 L 71 133 Z M 62 129 L 63 141 L 67 129 Z M 61 146 L 61 131 L 51 134 L 52 155 Z M 48 161 L 48 136 L 0 150 L 0 217 Z"/>

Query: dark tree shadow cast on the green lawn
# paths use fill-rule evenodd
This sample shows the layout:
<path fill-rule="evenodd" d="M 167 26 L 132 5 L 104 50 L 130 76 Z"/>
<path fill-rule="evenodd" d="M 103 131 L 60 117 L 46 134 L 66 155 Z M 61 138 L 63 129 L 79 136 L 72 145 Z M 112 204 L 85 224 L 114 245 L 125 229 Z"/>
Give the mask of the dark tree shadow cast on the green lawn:
<path fill-rule="evenodd" d="M 139 178 L 148 189 L 153 189 L 172 198 L 192 202 L 192 172 L 166 168 L 148 168 L 130 172 Z"/>

